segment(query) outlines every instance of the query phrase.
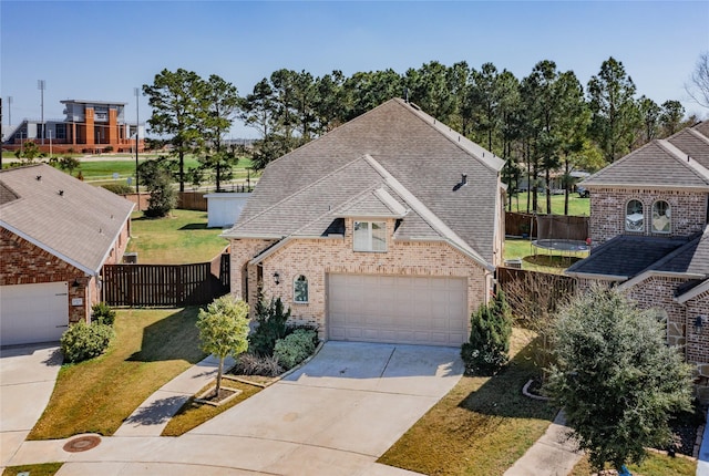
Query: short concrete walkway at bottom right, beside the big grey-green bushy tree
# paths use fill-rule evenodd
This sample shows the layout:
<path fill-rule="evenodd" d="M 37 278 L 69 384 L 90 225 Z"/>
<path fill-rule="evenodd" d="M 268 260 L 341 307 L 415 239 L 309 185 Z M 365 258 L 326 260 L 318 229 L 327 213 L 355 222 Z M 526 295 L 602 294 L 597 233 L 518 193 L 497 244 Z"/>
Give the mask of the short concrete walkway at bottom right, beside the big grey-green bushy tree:
<path fill-rule="evenodd" d="M 559 412 L 546 433 L 515 462 L 505 476 L 566 476 L 583 456 L 569 439 L 564 413 Z"/>

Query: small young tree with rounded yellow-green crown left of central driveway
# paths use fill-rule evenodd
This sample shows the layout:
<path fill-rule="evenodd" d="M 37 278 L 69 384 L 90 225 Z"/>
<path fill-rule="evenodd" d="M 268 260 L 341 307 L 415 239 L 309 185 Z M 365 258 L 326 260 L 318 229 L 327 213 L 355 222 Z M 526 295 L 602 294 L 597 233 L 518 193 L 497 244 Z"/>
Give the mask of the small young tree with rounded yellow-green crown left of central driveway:
<path fill-rule="evenodd" d="M 215 299 L 207 309 L 199 310 L 197 319 L 202 350 L 219 359 L 216 394 L 222 390 L 224 360 L 237 356 L 248 349 L 248 304 L 226 294 Z"/>

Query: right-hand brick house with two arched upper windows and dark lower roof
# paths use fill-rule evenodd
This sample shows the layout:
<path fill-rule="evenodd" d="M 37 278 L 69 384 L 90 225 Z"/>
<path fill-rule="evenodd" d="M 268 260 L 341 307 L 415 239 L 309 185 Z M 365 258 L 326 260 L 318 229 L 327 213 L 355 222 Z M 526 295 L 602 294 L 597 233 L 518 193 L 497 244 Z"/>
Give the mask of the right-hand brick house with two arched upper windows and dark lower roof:
<path fill-rule="evenodd" d="M 668 318 L 668 343 L 709 397 L 709 122 L 653 141 L 583 182 L 590 257 L 567 273 L 603 281 Z"/>

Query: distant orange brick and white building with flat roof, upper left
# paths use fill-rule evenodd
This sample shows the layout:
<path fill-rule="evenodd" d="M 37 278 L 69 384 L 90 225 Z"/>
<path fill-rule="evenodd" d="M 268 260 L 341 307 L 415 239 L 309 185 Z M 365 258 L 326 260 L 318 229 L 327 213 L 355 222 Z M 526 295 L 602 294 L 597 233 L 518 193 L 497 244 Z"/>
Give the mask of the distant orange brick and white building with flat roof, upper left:
<path fill-rule="evenodd" d="M 42 152 L 101 153 L 106 147 L 114 152 L 134 152 L 135 133 L 138 134 L 138 149 L 143 151 L 145 126 L 125 121 L 125 104 L 120 102 L 65 100 L 61 120 L 23 120 L 4 138 L 6 149 L 21 148 L 27 141 L 33 141 Z M 51 147 L 51 151 L 50 151 Z"/>

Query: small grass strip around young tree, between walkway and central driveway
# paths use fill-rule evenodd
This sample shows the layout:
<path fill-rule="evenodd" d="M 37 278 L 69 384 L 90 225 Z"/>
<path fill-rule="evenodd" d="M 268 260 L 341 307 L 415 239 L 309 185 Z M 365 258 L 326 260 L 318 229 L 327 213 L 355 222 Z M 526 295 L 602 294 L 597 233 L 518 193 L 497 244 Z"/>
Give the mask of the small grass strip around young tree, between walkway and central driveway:
<path fill-rule="evenodd" d="M 213 385 L 214 384 L 209 384 L 205 386 L 199 392 L 197 392 L 197 394 L 205 392 L 208 387 Z M 232 408 L 234 405 L 245 401 L 246 399 L 253 395 L 256 395 L 258 392 L 263 390 L 261 386 L 249 385 L 243 382 L 236 382 L 236 381 L 226 380 L 226 379 L 222 381 L 222 385 L 228 386 L 230 389 L 240 390 L 242 393 L 239 393 L 237 396 L 232 399 L 229 402 L 219 406 L 212 406 L 207 404 L 197 403 L 195 402 L 194 396 L 191 397 L 179 408 L 179 411 L 175 414 L 175 416 L 171 418 L 165 430 L 163 430 L 163 433 L 161 436 L 183 435 L 188 431 L 202 425 L 204 422 L 210 418 L 214 418 L 220 413 L 226 412 L 227 410 Z"/>

